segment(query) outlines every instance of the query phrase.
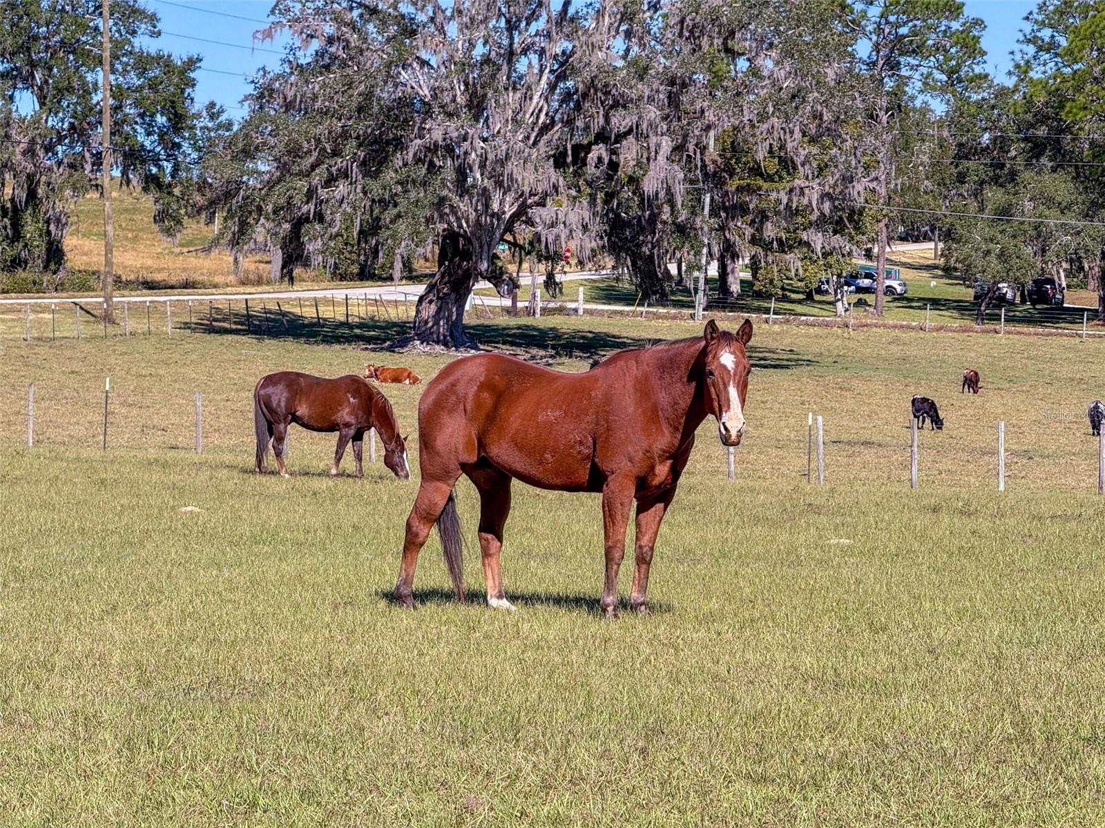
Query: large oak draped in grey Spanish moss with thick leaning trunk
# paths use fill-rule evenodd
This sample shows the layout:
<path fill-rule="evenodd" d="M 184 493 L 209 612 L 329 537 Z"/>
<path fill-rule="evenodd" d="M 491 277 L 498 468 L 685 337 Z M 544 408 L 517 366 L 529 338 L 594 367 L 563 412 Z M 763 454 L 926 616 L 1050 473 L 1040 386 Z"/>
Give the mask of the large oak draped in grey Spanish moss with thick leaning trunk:
<path fill-rule="evenodd" d="M 325 236 L 313 225 L 351 221 L 376 269 L 434 252 L 411 338 L 449 348 L 473 344 L 464 306 L 478 280 L 506 278 L 496 247 L 516 230 L 545 252 L 591 252 L 592 206 L 567 173 L 573 138 L 593 126 L 581 124 L 596 112 L 583 98 L 615 57 L 621 12 L 286 0 L 273 13 L 298 47 L 259 79 L 249 135 L 231 153 L 238 182 L 232 169 L 211 178 L 224 203 L 242 205 L 232 244 L 261 226 L 296 257 Z"/>

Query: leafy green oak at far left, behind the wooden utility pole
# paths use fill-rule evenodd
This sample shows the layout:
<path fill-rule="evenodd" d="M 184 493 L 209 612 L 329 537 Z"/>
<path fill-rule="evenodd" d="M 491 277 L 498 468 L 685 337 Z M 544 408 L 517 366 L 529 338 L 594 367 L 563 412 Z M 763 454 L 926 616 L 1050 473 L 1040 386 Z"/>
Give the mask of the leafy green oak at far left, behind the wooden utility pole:
<path fill-rule="evenodd" d="M 114 173 L 154 197 L 154 219 L 183 226 L 197 125 L 194 56 L 139 43 L 158 19 L 135 0 L 113 0 Z M 51 275 L 75 199 L 101 187 L 99 0 L 0 3 L 0 268 Z"/>

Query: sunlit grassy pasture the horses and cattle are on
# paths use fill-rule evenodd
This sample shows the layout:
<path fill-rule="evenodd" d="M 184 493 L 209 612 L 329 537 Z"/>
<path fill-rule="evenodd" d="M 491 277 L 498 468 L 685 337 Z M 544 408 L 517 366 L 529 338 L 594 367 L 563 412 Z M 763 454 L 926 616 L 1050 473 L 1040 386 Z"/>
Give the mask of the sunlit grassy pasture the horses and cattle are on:
<path fill-rule="evenodd" d="M 568 370 L 699 330 L 472 328 Z M 329 479 L 334 438 L 293 431 L 293 477 L 250 474 L 259 375 L 354 371 L 382 361 L 357 346 L 397 331 L 4 342 L 6 824 L 1105 821 L 1105 499 L 1084 416 L 1105 342 L 759 326 L 737 482 L 705 423 L 661 531 L 654 614 L 608 624 L 596 496 L 515 487 L 517 613 L 450 601 L 435 539 L 404 613 L 387 592 L 417 473 Z M 386 359 L 424 378 L 445 362 Z M 977 397 L 959 394 L 967 365 Z M 386 391 L 415 434 L 420 389 Z M 918 491 L 913 393 L 947 422 L 922 435 Z M 823 489 L 803 479 L 809 410 Z M 466 482 L 460 507 L 478 595 Z"/>

